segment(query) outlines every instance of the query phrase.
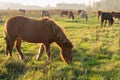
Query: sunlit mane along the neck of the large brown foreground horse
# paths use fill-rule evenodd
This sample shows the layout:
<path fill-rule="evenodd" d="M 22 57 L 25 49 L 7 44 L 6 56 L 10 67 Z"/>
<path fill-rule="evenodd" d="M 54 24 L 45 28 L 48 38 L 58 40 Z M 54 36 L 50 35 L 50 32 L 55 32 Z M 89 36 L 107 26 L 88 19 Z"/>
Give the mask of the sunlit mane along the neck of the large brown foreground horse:
<path fill-rule="evenodd" d="M 64 45 L 65 47 L 71 47 L 71 48 L 73 47 L 71 41 L 65 35 L 65 30 L 60 25 L 58 25 L 53 19 L 43 18 L 42 21 L 45 22 L 47 25 L 52 26 L 55 38 L 62 41 L 62 43 L 65 44 Z"/>

